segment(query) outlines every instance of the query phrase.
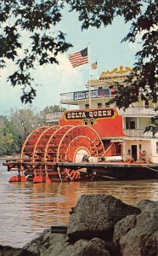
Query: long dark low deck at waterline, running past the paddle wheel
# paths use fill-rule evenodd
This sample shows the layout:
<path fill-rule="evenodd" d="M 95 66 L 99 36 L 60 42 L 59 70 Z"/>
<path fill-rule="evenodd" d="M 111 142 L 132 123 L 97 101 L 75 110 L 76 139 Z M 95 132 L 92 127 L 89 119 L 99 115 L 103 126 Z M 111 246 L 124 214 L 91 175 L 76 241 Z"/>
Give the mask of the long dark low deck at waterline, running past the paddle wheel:
<path fill-rule="evenodd" d="M 48 175 L 53 175 L 54 170 L 76 170 L 82 174 L 95 173 L 96 177 L 109 177 L 115 179 L 148 179 L 158 177 L 158 164 L 151 163 L 128 163 L 128 162 L 52 162 L 31 160 L 6 160 L 3 166 L 8 166 L 8 172 L 19 171 L 37 175 L 47 170 Z M 55 171 L 57 172 L 57 171 Z"/>

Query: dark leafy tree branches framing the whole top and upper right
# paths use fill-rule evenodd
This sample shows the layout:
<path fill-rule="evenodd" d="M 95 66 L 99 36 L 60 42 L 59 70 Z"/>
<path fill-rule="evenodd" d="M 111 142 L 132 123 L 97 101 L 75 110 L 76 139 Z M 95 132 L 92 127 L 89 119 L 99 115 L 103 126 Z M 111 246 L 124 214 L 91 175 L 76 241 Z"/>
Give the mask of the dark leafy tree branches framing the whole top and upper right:
<path fill-rule="evenodd" d="M 117 15 L 121 15 L 125 22 L 131 22 L 131 30 L 123 41 L 134 43 L 140 35 L 142 49 L 136 54 L 136 63 L 127 79 L 127 86 L 118 88 L 115 101 L 120 108 L 137 102 L 139 96 L 146 102 L 157 102 L 158 14 L 155 0 L 1 0 L 3 34 L 0 37 L 0 65 L 3 68 L 6 59 L 16 62 L 18 69 L 8 80 L 14 86 L 22 86 L 22 102 L 31 102 L 36 96 L 31 70 L 37 64 L 57 63 L 57 55 L 71 47 L 65 42 L 63 32 L 56 35 L 50 33 L 61 20 L 61 11 L 66 4 L 71 11 L 78 13 L 82 29 L 108 26 Z M 27 32 L 30 37 L 31 44 L 27 49 L 20 42 L 22 32 Z M 24 56 L 21 58 L 17 58 L 18 49 L 23 50 Z"/>

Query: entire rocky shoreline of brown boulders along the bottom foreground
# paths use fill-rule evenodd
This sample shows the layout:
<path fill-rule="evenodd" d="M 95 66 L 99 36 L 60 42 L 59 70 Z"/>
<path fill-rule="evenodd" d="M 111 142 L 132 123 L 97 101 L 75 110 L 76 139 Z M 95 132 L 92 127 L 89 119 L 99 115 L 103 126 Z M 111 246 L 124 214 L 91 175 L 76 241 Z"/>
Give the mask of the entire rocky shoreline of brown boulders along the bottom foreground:
<path fill-rule="evenodd" d="M 129 206 L 111 195 L 82 195 L 67 227 L 52 227 L 0 256 L 156 256 L 158 201 Z"/>

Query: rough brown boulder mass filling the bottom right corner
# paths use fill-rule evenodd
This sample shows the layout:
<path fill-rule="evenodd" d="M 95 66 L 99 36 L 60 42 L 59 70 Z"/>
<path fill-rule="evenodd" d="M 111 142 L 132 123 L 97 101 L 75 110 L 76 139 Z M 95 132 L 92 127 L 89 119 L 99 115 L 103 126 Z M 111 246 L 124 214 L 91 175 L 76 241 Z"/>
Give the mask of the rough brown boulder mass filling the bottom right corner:
<path fill-rule="evenodd" d="M 114 241 L 122 256 L 156 256 L 158 253 L 158 202 L 140 201 L 142 213 L 127 216 L 115 226 Z"/>

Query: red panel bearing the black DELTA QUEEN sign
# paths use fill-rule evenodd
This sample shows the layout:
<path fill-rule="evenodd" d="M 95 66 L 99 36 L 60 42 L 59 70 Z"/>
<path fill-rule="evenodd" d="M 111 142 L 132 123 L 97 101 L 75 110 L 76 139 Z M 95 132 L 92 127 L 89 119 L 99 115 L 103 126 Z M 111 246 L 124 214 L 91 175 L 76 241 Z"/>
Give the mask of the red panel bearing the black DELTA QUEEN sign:
<path fill-rule="evenodd" d="M 116 108 L 93 108 L 68 110 L 59 119 L 59 125 L 90 125 L 99 137 L 125 137 L 122 116 Z"/>

